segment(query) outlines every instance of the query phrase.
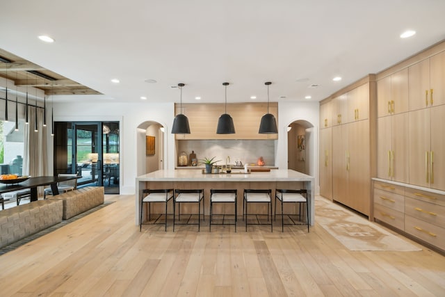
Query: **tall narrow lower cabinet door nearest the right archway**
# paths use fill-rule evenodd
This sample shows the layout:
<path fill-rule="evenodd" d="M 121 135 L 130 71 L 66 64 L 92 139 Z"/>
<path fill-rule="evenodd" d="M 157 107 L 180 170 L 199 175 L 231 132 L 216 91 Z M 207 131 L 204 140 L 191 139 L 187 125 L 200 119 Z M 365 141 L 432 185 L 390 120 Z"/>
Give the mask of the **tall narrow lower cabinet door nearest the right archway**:
<path fill-rule="evenodd" d="M 332 128 L 320 130 L 320 195 L 332 200 Z"/>

